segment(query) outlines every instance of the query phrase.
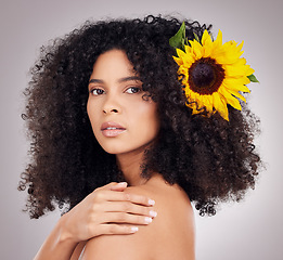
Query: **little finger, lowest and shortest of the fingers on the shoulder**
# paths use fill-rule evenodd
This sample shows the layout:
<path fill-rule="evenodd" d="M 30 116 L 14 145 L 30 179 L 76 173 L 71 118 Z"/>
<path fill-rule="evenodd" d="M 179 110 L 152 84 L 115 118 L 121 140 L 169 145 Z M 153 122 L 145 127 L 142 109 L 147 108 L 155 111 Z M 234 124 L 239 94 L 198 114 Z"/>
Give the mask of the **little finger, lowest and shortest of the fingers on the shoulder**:
<path fill-rule="evenodd" d="M 138 226 L 124 224 L 101 224 L 99 226 L 99 232 L 105 235 L 128 235 L 136 233 L 138 230 Z"/>

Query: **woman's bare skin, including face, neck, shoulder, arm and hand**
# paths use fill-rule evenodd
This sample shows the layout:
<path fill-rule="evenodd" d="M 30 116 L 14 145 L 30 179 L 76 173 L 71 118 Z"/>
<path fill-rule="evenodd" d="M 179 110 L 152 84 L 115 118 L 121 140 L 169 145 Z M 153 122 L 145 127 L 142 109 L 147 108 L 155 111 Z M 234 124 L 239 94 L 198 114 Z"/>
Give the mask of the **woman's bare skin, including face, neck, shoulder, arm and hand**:
<path fill-rule="evenodd" d="M 87 110 L 95 139 L 116 155 L 127 183 L 99 187 L 64 214 L 36 260 L 75 260 L 85 244 L 82 259 L 194 259 L 186 194 L 157 172 L 149 181 L 140 176 L 144 151 L 159 131 L 156 103 L 144 101 L 143 94 L 125 52 L 111 50 L 99 56 Z"/>

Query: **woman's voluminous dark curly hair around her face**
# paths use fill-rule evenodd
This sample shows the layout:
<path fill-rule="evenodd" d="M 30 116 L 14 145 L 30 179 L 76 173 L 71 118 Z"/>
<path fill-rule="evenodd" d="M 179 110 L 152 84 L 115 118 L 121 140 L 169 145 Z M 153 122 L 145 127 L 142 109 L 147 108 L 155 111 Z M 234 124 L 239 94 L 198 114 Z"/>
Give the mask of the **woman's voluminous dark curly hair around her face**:
<path fill-rule="evenodd" d="M 180 28 L 175 17 L 87 22 L 79 29 L 41 48 L 24 91 L 22 115 L 30 138 L 30 162 L 18 190 L 28 187 L 26 210 L 39 218 L 48 210 L 70 209 L 94 188 L 123 181 L 115 155 L 107 154 L 94 138 L 87 115 L 88 81 L 98 56 L 124 50 L 157 103 L 160 131 L 156 145 L 145 152 L 143 178 L 152 172 L 178 183 L 201 214 L 215 214 L 216 205 L 240 200 L 254 187 L 259 156 L 253 144 L 258 119 L 243 104 L 229 106 L 230 121 L 219 114 L 192 115 L 185 106 L 178 79 L 175 50 L 168 40 Z M 186 37 L 200 38 L 210 25 L 185 21 Z"/>

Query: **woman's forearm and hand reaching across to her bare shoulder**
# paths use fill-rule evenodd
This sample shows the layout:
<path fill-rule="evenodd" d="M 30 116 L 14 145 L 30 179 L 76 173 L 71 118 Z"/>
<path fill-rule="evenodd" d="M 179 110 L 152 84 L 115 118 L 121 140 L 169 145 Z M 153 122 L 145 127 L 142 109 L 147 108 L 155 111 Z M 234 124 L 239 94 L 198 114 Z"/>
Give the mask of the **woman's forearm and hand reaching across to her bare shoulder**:
<path fill-rule="evenodd" d="M 106 234 L 131 234 L 131 227 L 142 224 L 140 216 L 147 213 L 152 205 L 149 197 L 124 193 L 126 185 L 110 183 L 97 188 L 81 203 L 65 213 L 56 223 L 51 234 L 39 249 L 35 260 L 69 260 L 75 248 L 80 242 Z M 128 216 L 125 205 L 134 204 L 132 213 L 128 217 L 127 224 L 119 218 Z M 139 204 L 139 206 L 137 205 Z M 81 245 L 81 243 L 79 244 Z M 73 256 L 77 255 L 79 246 Z"/>

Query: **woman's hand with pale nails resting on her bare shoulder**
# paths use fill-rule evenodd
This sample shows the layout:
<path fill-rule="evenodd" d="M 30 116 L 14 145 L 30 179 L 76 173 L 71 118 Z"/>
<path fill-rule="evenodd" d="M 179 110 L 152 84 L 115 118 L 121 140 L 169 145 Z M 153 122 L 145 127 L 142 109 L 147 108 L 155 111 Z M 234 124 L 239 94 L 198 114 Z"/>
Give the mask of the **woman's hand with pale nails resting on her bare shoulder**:
<path fill-rule="evenodd" d="M 155 217 L 149 197 L 124 192 L 126 182 L 95 188 L 64 214 L 63 233 L 79 243 L 104 234 L 131 234 L 136 224 L 146 225 Z"/>

